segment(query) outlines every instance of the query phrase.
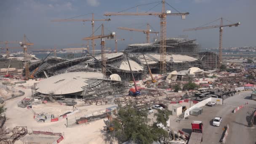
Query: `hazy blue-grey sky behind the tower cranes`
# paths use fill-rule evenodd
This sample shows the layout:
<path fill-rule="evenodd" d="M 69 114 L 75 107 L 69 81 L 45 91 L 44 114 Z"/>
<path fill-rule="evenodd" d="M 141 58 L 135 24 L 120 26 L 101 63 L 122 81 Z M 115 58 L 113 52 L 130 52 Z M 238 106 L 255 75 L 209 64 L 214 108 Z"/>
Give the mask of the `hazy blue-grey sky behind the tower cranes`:
<path fill-rule="evenodd" d="M 95 13 L 95 19 L 106 19 L 104 12 L 118 12 L 135 5 L 157 2 L 157 0 L 0 0 L 0 41 L 22 40 L 26 34 L 34 43 L 34 48 L 67 48 L 68 44 L 86 44 L 81 40 L 91 35 L 91 22 L 51 22 L 53 19 L 66 19 L 88 13 Z M 182 32 L 186 28 L 194 28 L 223 17 L 232 22 L 241 22 L 239 27 L 225 27 L 223 47 L 256 46 L 256 0 L 166 0 L 178 11 L 189 12 L 185 20 L 180 16 L 167 17 L 167 37 L 187 35 L 197 39 L 202 48 L 215 48 L 219 45 L 219 29 L 205 29 Z M 140 6 L 140 12 L 161 11 L 157 3 Z M 155 7 L 155 8 L 153 8 Z M 176 12 L 166 5 L 166 10 Z M 135 12 L 131 9 L 126 12 Z M 146 35 L 142 32 L 130 32 L 117 27 L 133 27 L 146 29 L 146 24 L 160 31 L 160 18 L 157 16 L 111 16 L 105 21 L 105 34 L 115 31 L 119 41 L 119 49 L 131 43 L 144 43 Z M 91 14 L 77 17 L 91 19 Z M 224 24 L 229 24 L 224 21 Z M 95 29 L 101 21 L 95 22 Z M 219 21 L 210 24 L 217 25 Z M 208 26 L 210 26 L 208 25 Z M 152 30 L 153 30 L 152 29 Z M 96 35 L 100 35 L 100 29 Z M 153 40 L 154 35 L 151 35 Z M 91 43 L 91 42 L 90 42 Z M 107 47 L 114 49 L 115 41 L 107 41 Z M 99 40 L 96 49 L 100 49 Z M 18 46 L 18 45 L 10 45 Z M 3 45 L 0 45 L 3 47 Z M 91 47 L 91 46 L 90 46 Z"/>

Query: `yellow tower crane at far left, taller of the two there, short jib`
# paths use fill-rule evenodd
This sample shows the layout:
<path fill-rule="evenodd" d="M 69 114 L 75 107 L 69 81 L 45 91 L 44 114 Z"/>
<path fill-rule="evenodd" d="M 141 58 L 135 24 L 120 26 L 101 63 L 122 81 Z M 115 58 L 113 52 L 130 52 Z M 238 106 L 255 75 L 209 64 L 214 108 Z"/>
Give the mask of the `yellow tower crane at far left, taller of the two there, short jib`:
<path fill-rule="evenodd" d="M 23 42 L 19 42 L 21 47 L 24 50 L 24 62 L 25 62 L 25 77 L 26 79 L 29 78 L 29 62 L 27 61 L 27 46 L 34 45 L 34 43 L 27 43 L 27 36 L 24 34 Z"/>

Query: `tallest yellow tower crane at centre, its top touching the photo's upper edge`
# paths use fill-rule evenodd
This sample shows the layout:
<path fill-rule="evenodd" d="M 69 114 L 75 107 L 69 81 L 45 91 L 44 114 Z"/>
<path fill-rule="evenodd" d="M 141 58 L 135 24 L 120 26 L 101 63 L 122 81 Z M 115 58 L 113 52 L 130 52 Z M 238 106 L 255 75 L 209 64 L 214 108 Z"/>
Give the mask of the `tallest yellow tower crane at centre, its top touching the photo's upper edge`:
<path fill-rule="evenodd" d="M 158 16 L 160 18 L 160 72 L 162 74 L 166 74 L 166 16 L 181 16 L 181 19 L 185 19 L 185 17 L 189 14 L 187 13 L 171 13 L 171 11 L 165 11 L 165 0 L 161 0 L 161 2 L 155 2 L 157 5 L 162 3 L 162 11 L 161 12 L 143 12 L 143 13 L 123 13 L 123 11 L 120 11 L 118 13 L 105 13 L 104 16 Z M 153 4 L 153 3 L 149 3 Z M 149 5 L 149 4 L 144 4 L 144 5 Z M 168 4 L 168 3 L 167 3 Z M 156 5 L 156 6 L 157 6 Z M 169 5 L 169 4 L 168 4 Z M 169 5 L 171 6 L 171 5 Z M 135 6 L 138 10 L 139 5 Z M 135 8 L 133 7 L 133 8 Z M 131 8 L 128 8 L 131 9 Z M 127 9 L 127 10 L 128 10 Z M 126 10 L 125 10 L 126 11 Z"/>

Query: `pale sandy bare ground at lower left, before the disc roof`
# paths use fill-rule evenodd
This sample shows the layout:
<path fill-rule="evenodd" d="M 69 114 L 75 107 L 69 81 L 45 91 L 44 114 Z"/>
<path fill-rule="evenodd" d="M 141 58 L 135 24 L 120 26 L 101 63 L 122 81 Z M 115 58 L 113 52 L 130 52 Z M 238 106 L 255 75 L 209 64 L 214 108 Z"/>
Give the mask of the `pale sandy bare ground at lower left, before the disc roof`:
<path fill-rule="evenodd" d="M 5 122 L 6 128 L 13 128 L 15 126 L 27 126 L 28 131 L 53 131 L 64 133 L 64 140 L 61 144 L 99 144 L 105 143 L 103 127 L 105 126 L 103 120 L 98 120 L 90 123 L 89 125 L 80 125 L 74 128 L 66 128 L 66 120 L 61 120 L 54 123 L 37 123 L 33 119 L 33 114 L 26 108 L 20 108 L 17 103 L 24 97 L 31 96 L 31 89 L 17 88 L 25 92 L 24 96 L 17 97 L 6 101 L 5 107 L 7 107 Z M 47 105 L 47 104 L 46 104 Z M 104 109 L 110 105 L 104 106 L 86 106 L 87 112 L 93 112 L 97 109 Z M 21 141 L 16 141 L 16 144 Z"/>

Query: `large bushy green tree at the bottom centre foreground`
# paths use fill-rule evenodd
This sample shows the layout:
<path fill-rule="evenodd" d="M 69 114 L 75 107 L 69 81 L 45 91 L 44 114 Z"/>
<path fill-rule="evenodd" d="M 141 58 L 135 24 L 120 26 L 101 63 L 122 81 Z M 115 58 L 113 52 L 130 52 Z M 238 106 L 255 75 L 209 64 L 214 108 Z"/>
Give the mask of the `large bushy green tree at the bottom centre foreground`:
<path fill-rule="evenodd" d="M 156 138 L 147 125 L 149 119 L 147 112 L 121 105 L 118 107 L 118 117 L 113 120 L 115 124 L 115 137 L 120 143 L 134 141 L 139 144 L 151 144 Z"/>

